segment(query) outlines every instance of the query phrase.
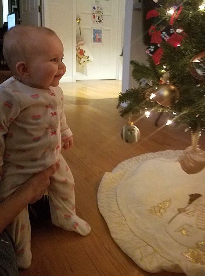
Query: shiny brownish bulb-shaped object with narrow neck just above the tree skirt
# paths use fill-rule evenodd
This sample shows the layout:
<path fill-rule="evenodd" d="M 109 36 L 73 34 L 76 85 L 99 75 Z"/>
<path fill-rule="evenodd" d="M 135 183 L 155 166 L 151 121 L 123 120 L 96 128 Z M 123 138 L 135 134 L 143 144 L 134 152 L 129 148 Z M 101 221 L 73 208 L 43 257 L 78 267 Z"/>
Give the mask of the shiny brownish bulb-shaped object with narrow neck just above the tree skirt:
<path fill-rule="evenodd" d="M 199 128 L 192 132 L 192 145 L 184 151 L 183 155 L 178 158 L 182 169 L 187 174 L 196 174 L 205 167 L 205 153 L 199 149 L 199 138 L 201 132 Z"/>

